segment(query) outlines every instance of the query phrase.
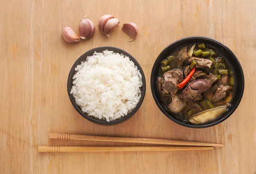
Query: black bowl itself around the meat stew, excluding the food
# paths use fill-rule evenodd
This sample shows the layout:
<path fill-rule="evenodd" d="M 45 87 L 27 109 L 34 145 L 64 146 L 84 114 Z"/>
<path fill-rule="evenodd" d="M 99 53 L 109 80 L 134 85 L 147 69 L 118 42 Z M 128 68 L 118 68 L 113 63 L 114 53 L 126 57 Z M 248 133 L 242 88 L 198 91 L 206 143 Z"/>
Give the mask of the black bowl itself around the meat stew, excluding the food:
<path fill-rule="evenodd" d="M 210 46 L 214 47 L 218 51 L 220 51 L 227 59 L 230 61 L 230 63 L 233 65 L 234 70 L 236 70 L 236 77 L 238 86 L 236 93 L 233 95 L 233 102 L 231 103 L 231 107 L 228 109 L 226 113 L 224 113 L 222 116 L 218 117 L 217 119 L 214 119 L 210 122 L 206 122 L 201 125 L 194 125 L 189 122 L 184 122 L 181 119 L 178 119 L 175 117 L 166 107 L 164 106 L 163 102 L 161 101 L 160 95 L 157 92 L 157 77 L 158 72 L 160 69 L 160 64 L 163 59 L 165 59 L 172 51 L 177 49 L 178 47 L 184 45 L 184 44 L 192 44 L 195 42 L 204 42 L 205 44 L 209 44 Z M 231 114 L 236 110 L 238 107 L 243 93 L 244 93 L 244 73 L 241 67 L 241 64 L 239 63 L 238 59 L 236 58 L 236 55 L 224 44 L 220 43 L 219 41 L 216 41 L 212 38 L 207 37 L 200 37 L 200 36 L 193 36 L 188 38 L 182 38 L 178 41 L 173 42 L 169 46 L 167 46 L 161 53 L 158 55 L 157 60 L 155 61 L 152 71 L 151 71 L 151 79 L 150 79 L 150 85 L 151 85 L 151 92 L 154 97 L 154 101 L 157 103 L 157 106 L 160 108 L 160 110 L 172 121 L 179 125 L 183 125 L 189 128 L 208 128 L 214 125 L 217 125 L 221 122 L 223 122 L 225 119 L 227 119 Z"/>

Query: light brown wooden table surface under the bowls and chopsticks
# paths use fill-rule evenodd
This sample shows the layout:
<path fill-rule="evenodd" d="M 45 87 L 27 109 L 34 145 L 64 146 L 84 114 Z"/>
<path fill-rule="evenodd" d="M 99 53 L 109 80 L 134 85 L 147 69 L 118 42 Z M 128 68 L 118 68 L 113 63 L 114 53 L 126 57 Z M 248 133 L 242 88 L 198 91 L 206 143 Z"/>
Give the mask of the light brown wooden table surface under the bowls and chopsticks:
<path fill-rule="evenodd" d="M 107 38 L 67 44 L 61 29 L 78 32 L 81 17 L 95 24 L 113 14 L 120 27 Z M 255 174 L 256 173 L 256 1 L 255 0 L 2 0 L 0 3 L 0 173 L 11 174 Z M 139 27 L 135 41 L 122 23 Z M 158 109 L 150 73 L 159 53 L 173 41 L 201 35 L 227 45 L 245 75 L 241 104 L 223 123 L 192 129 Z M 116 46 L 134 55 L 144 70 L 143 104 L 127 122 L 93 124 L 76 112 L 67 95 L 73 63 L 89 49 Z M 223 143 L 212 151 L 38 153 L 38 146 L 122 146 L 128 143 L 61 141 L 48 133 L 128 136 Z"/>

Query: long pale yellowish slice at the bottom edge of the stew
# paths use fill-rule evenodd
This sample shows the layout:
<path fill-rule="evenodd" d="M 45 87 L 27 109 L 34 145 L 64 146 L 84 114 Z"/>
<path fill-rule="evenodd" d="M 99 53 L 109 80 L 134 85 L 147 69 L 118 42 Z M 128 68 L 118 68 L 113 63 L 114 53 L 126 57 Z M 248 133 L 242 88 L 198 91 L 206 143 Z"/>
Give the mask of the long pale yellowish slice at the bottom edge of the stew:
<path fill-rule="evenodd" d="M 202 124 L 218 118 L 225 112 L 227 112 L 227 106 L 224 105 L 224 106 L 215 107 L 191 116 L 189 118 L 189 122 L 192 122 L 195 125 Z"/>

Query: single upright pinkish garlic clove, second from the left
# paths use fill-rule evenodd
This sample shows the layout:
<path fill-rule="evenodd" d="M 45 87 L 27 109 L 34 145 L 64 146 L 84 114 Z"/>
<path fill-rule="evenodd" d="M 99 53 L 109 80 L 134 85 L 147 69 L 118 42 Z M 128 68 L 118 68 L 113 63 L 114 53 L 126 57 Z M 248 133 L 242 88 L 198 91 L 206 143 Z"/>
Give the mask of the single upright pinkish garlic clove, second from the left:
<path fill-rule="evenodd" d="M 81 39 L 88 39 L 94 35 L 95 26 L 90 19 L 83 18 L 79 23 L 79 31 Z"/>

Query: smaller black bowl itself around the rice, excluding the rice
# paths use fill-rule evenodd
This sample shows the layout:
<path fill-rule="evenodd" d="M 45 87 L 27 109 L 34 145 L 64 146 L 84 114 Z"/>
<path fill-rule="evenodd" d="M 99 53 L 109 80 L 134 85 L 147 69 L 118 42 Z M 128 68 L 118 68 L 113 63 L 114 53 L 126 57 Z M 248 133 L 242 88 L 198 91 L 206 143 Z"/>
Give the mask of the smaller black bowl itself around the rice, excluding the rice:
<path fill-rule="evenodd" d="M 109 51 L 113 51 L 113 52 L 118 52 L 120 54 L 123 54 L 123 55 L 126 55 L 130 58 L 131 61 L 134 62 L 134 64 L 138 67 L 138 70 L 140 70 L 140 73 L 142 75 L 142 87 L 141 87 L 141 97 L 140 97 L 140 102 L 137 104 L 137 106 L 134 108 L 134 110 L 131 111 L 131 113 L 128 113 L 127 116 L 124 116 L 122 117 L 121 119 L 116 119 L 114 121 L 110 121 L 110 122 L 107 122 L 107 121 L 104 121 L 104 120 L 99 120 L 99 119 L 96 119 L 96 118 L 93 118 L 93 117 L 90 117 L 88 116 L 86 113 L 82 112 L 81 108 L 76 105 L 76 101 L 75 99 L 73 98 L 73 95 L 70 94 L 70 91 L 71 91 L 71 88 L 73 86 L 73 76 L 75 75 L 76 71 L 75 71 L 75 67 L 79 64 L 81 64 L 81 61 L 86 61 L 86 58 L 87 56 L 90 56 L 90 55 L 93 55 L 93 53 L 96 51 L 96 52 L 102 52 L 104 50 L 108 49 Z M 143 102 L 143 99 L 145 97 L 145 92 L 146 92 L 146 81 L 145 81 L 145 75 L 143 73 L 143 70 L 142 68 L 140 67 L 140 64 L 137 62 L 137 60 L 132 56 L 130 55 L 128 52 L 122 50 L 122 49 L 119 49 L 119 48 L 116 48 L 116 47 L 113 47 L 113 46 L 102 46 L 102 47 L 97 47 L 97 48 L 93 48 L 87 52 L 85 52 L 83 55 L 81 55 L 77 60 L 76 62 L 73 64 L 71 70 L 70 70 L 70 73 L 68 75 L 68 80 L 67 80 L 67 93 L 68 93 L 68 96 L 70 98 L 70 101 L 71 103 L 73 104 L 73 106 L 75 107 L 75 109 L 77 110 L 77 112 L 79 112 L 81 114 L 81 116 L 83 116 L 84 118 L 86 118 L 87 120 L 90 120 L 91 122 L 94 122 L 96 124 L 100 124 L 100 125 L 116 125 L 116 124 L 119 124 L 121 122 L 124 122 L 126 121 L 127 119 L 131 118 L 131 116 L 134 115 L 134 113 L 136 113 L 136 111 L 140 108 L 140 105 L 142 104 Z"/>

